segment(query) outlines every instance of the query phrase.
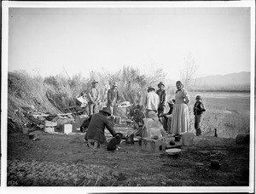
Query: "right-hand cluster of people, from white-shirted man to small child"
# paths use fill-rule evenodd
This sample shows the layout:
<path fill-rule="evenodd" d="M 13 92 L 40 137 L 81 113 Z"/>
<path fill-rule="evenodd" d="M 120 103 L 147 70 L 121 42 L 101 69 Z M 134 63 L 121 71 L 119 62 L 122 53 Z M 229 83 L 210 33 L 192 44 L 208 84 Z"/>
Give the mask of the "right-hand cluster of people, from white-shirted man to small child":
<path fill-rule="evenodd" d="M 189 132 L 189 94 L 183 83 L 177 81 L 177 90 L 175 92 L 175 99 L 167 102 L 167 93 L 165 84 L 160 82 L 158 90 L 155 91 L 153 87 L 148 87 L 148 94 L 146 96 L 145 108 L 146 117 L 152 111 L 158 114 L 163 128 L 169 134 L 183 134 Z M 201 114 L 206 111 L 202 98 L 197 95 L 195 98 L 194 114 L 195 114 L 195 131 L 196 135 L 201 135 Z M 165 113 L 166 104 L 169 105 L 169 111 Z"/>

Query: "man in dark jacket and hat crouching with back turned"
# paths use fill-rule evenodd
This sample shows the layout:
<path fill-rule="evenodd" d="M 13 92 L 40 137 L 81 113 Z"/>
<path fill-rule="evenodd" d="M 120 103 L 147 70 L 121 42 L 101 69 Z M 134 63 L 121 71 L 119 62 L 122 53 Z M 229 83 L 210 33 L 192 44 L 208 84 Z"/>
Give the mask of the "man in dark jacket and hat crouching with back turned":
<path fill-rule="evenodd" d="M 90 148 L 96 149 L 106 142 L 104 134 L 105 127 L 108 128 L 110 134 L 115 136 L 116 132 L 113 129 L 113 124 L 108 120 L 109 116 L 111 116 L 110 111 L 107 107 L 104 107 L 99 113 L 91 117 L 90 124 L 84 136 L 84 140 L 88 141 Z"/>

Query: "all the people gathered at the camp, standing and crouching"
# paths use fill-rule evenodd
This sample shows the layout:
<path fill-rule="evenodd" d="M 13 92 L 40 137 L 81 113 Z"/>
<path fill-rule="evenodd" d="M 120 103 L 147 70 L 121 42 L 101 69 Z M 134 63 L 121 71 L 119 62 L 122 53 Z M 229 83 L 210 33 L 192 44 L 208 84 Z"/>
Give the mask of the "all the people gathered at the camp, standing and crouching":
<path fill-rule="evenodd" d="M 113 137 L 119 135 L 113 129 L 113 123 L 111 122 L 113 107 L 116 106 L 119 100 L 118 83 L 113 83 L 112 88 L 108 89 L 107 106 L 103 107 L 101 111 L 98 111 L 100 94 L 97 84 L 96 81 L 92 83 L 92 88 L 88 94 L 90 99 L 88 103 L 89 112 L 92 117 L 84 136 L 84 140 L 88 142 L 91 148 L 96 148 L 106 142 L 105 128 L 108 128 L 108 131 Z M 176 87 L 175 100 L 167 101 L 167 92 L 163 82 L 158 84 L 159 89 L 157 91 L 151 86 L 148 87 L 148 93 L 145 98 L 145 116 L 158 117 L 166 132 L 173 135 L 189 132 L 189 94 L 183 88 L 183 83 L 180 81 L 177 81 Z M 201 135 L 201 114 L 206 110 L 201 102 L 200 95 L 197 95 L 195 100 L 195 130 L 196 135 Z M 169 111 L 167 113 L 165 113 L 167 110 L 166 104 L 169 105 Z"/>

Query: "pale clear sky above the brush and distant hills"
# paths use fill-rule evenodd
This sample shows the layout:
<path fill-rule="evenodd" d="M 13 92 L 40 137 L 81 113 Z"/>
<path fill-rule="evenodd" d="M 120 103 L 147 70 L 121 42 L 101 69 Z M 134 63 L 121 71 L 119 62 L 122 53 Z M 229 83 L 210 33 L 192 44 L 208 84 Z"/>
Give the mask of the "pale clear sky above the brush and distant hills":
<path fill-rule="evenodd" d="M 177 79 L 250 71 L 249 8 L 12 8 L 9 71 L 41 76 L 163 67 Z"/>

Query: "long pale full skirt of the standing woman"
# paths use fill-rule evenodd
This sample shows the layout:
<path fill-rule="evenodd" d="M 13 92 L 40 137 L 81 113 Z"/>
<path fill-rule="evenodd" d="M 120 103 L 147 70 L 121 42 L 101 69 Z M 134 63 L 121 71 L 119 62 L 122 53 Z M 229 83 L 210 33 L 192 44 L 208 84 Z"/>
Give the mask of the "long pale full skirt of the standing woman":
<path fill-rule="evenodd" d="M 189 132 L 189 106 L 174 104 L 172 110 L 171 134 Z"/>

